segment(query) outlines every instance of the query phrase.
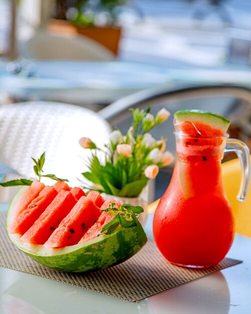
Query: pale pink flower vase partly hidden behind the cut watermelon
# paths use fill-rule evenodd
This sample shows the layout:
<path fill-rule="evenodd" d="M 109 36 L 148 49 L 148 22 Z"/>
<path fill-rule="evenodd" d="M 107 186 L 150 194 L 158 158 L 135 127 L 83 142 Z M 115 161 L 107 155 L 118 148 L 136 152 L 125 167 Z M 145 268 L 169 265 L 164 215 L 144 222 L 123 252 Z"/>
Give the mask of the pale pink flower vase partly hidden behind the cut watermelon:
<path fill-rule="evenodd" d="M 138 197 L 120 197 L 120 196 L 110 195 L 110 194 L 106 194 L 106 193 L 102 193 L 101 195 L 105 200 L 112 198 L 116 201 L 119 201 L 121 204 L 130 204 L 132 206 L 141 206 L 143 208 L 144 212 L 140 214 L 138 220 L 139 220 L 142 227 L 145 226 L 146 221 L 147 221 L 147 205 L 148 204 L 146 201 L 144 201 L 141 198 L 141 196 L 138 196 Z"/>

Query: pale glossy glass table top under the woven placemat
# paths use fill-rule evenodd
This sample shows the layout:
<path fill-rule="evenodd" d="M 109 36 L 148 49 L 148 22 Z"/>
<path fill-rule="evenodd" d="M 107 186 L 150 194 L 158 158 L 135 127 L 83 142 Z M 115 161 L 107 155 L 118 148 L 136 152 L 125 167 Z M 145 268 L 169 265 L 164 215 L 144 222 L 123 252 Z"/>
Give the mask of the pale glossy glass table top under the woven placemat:
<path fill-rule="evenodd" d="M 8 204 L 0 204 L 5 211 Z M 145 227 L 151 235 L 152 215 Z M 236 234 L 227 256 L 243 263 L 138 303 L 0 267 L 1 314 L 250 313 L 251 239 Z"/>

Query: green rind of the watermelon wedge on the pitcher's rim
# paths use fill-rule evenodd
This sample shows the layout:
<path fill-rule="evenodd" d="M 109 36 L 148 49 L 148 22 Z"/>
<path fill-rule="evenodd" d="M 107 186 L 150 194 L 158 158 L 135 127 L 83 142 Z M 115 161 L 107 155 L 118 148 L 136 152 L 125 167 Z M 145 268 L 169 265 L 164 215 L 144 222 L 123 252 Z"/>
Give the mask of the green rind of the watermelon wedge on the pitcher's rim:
<path fill-rule="evenodd" d="M 219 114 L 197 109 L 185 109 L 176 111 L 174 113 L 174 117 L 176 122 L 178 123 L 183 121 L 203 122 L 207 125 L 210 125 L 214 129 L 218 129 L 219 133 L 222 134 L 226 133 L 228 126 L 231 123 L 230 120 Z"/>

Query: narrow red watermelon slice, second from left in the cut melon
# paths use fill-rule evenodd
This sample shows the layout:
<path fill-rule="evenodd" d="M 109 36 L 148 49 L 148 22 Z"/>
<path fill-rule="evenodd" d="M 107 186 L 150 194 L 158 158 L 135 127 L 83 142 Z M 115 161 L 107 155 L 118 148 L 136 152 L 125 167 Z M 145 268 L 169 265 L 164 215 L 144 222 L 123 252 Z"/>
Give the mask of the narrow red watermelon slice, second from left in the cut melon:
<path fill-rule="evenodd" d="M 9 231 L 23 235 L 44 212 L 57 194 L 54 187 L 46 186 L 10 225 Z"/>

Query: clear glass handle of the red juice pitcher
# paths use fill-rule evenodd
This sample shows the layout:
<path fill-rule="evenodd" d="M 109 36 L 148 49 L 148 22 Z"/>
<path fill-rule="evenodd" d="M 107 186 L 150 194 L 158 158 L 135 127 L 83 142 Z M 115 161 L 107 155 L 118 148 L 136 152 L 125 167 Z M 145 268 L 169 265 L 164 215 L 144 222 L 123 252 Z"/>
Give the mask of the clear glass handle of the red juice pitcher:
<path fill-rule="evenodd" d="M 249 161 L 249 148 L 239 139 L 228 138 L 224 151 L 234 151 L 240 162 L 240 187 L 237 194 L 237 200 L 243 202 L 249 188 L 250 182 L 250 161 Z"/>

